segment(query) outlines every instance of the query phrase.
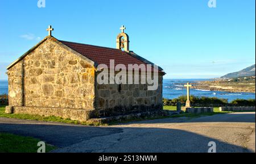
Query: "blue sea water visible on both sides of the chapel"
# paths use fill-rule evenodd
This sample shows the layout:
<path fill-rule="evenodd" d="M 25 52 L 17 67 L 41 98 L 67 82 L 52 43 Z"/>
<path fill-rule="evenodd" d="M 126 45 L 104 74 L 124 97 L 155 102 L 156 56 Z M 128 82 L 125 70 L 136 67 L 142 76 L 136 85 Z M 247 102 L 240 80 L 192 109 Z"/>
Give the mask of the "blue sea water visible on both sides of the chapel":
<path fill-rule="evenodd" d="M 210 81 L 211 79 L 164 79 L 163 80 L 163 98 L 174 99 L 181 95 L 186 95 L 187 90 L 184 84 L 197 83 L 200 81 Z M 191 95 L 195 96 L 207 96 L 216 97 L 222 99 L 228 99 L 232 101 L 234 99 L 255 99 L 255 94 L 250 92 L 225 92 L 225 91 L 210 91 L 191 89 Z M 8 94 L 8 82 L 0 80 L 0 95 Z"/>

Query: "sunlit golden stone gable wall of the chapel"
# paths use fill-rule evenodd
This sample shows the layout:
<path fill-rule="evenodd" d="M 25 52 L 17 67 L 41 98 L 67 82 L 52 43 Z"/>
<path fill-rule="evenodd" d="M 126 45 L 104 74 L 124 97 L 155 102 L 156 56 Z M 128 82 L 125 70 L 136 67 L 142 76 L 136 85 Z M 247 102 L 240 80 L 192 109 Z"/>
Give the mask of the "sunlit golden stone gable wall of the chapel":
<path fill-rule="evenodd" d="M 8 71 L 9 106 L 94 109 L 94 66 L 46 40 Z"/>

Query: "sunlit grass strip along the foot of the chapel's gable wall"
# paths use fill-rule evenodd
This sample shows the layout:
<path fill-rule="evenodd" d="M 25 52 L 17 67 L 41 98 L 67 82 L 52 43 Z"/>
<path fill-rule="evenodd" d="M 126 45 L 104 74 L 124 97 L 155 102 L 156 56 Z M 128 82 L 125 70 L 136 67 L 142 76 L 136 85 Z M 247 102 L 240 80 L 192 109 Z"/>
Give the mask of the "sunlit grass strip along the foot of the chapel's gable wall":
<path fill-rule="evenodd" d="M 100 124 L 100 123 L 88 123 L 86 121 L 82 122 L 82 121 L 71 120 L 71 119 L 63 119 L 62 117 L 56 117 L 56 116 L 39 116 L 39 115 L 28 115 L 28 114 L 19 114 L 19 113 L 7 114 L 5 113 L 5 106 L 0 106 L 0 117 L 24 119 L 24 120 L 52 121 L 52 122 L 59 122 L 59 123 L 81 124 L 81 125 L 95 125 L 95 126 L 106 125 L 106 124 Z"/>

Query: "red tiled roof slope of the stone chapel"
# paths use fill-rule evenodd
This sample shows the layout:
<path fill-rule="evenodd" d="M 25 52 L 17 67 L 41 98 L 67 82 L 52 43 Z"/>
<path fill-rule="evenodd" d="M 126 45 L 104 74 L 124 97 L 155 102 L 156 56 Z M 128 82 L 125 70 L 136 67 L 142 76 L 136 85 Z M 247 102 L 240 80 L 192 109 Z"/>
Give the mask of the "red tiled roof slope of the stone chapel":
<path fill-rule="evenodd" d="M 74 51 L 96 62 L 98 65 L 105 64 L 109 67 L 110 60 L 114 60 L 115 65 L 124 64 L 126 68 L 128 68 L 128 64 L 149 64 L 146 61 L 140 60 L 138 57 L 135 57 L 133 54 L 121 51 L 120 49 L 73 43 L 62 40 L 59 41 L 67 45 Z M 161 72 L 160 69 L 159 71 Z"/>

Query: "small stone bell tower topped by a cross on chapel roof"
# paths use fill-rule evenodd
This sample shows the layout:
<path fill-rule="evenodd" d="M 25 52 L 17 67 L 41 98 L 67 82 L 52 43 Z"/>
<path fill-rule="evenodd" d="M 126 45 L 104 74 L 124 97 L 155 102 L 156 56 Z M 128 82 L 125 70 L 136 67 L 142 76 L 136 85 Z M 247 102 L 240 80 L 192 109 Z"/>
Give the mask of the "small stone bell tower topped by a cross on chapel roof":
<path fill-rule="evenodd" d="M 117 49 L 129 52 L 129 36 L 125 33 L 126 27 L 122 25 L 121 33 L 117 35 Z"/>

